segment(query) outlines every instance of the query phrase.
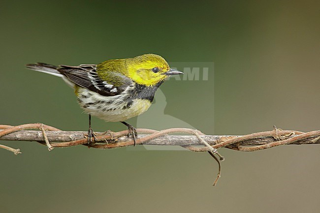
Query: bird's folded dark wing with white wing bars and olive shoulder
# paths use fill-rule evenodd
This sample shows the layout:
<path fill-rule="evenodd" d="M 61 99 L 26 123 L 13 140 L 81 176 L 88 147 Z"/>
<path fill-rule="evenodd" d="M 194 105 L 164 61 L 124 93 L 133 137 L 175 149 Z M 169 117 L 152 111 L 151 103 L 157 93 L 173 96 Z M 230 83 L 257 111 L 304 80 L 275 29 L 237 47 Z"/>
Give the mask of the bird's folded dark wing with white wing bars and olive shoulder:
<path fill-rule="evenodd" d="M 127 76 L 112 71 L 106 71 L 109 80 L 102 80 L 96 73 L 95 64 L 60 65 L 57 70 L 79 87 L 87 88 L 105 96 L 118 95 L 132 84 L 132 80 Z"/>

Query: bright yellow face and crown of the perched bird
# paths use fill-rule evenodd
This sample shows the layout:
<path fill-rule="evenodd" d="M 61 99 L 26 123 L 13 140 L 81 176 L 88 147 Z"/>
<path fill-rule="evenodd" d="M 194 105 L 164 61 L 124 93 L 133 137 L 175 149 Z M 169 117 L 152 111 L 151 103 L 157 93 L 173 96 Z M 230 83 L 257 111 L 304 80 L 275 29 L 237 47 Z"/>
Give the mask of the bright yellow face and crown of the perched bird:
<path fill-rule="evenodd" d="M 127 64 L 128 77 L 141 85 L 153 86 L 164 81 L 170 70 L 169 64 L 158 55 L 145 54 L 129 59 Z"/>

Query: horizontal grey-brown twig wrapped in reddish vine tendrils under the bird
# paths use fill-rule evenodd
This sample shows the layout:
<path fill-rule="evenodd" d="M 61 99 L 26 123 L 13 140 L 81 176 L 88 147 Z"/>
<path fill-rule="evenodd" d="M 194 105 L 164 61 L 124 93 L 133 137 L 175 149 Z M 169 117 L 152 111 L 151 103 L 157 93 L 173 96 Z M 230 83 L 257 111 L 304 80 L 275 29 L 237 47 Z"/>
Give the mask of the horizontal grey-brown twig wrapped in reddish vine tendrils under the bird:
<path fill-rule="evenodd" d="M 216 185 L 221 176 L 220 161 L 223 161 L 224 157 L 217 151 L 220 148 L 241 152 L 254 152 L 288 144 L 320 144 L 320 130 L 301 132 L 283 130 L 276 126 L 274 126 L 272 131 L 228 136 L 205 135 L 199 130 L 190 128 L 170 128 L 160 131 L 138 128 L 136 130 L 138 132 L 136 145 L 181 146 L 192 152 L 209 152 L 219 164 L 219 172 L 213 185 Z M 95 132 L 95 134 L 95 144 L 91 145 L 90 148 L 114 149 L 134 145 L 134 141 L 127 136 L 128 130 L 119 132 L 108 130 L 106 132 Z M 62 131 L 43 123 L 28 123 L 18 126 L 0 125 L 0 140 L 36 141 L 46 145 L 49 151 L 55 147 L 88 146 L 87 136 L 88 132 Z M 5 145 L 0 145 L 0 148 L 11 151 L 16 155 L 21 153 L 20 149 L 14 149 Z M 215 155 L 218 155 L 219 158 Z"/>

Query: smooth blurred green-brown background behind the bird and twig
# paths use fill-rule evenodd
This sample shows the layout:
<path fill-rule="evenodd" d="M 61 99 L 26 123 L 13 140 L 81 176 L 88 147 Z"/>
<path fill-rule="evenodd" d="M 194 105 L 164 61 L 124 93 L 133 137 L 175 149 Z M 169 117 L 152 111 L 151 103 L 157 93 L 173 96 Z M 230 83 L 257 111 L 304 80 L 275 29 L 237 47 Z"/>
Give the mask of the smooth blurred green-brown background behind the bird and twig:
<path fill-rule="evenodd" d="M 169 62 L 211 61 L 215 72 L 208 81 L 163 84 L 164 112 L 152 107 L 139 122 L 144 127 L 168 127 L 153 119 L 161 114 L 207 134 L 273 125 L 320 129 L 319 6 L 316 0 L 1 0 L 0 123 L 88 129 L 73 91 L 57 77 L 26 70 L 26 63 L 78 65 L 156 53 Z M 125 126 L 94 118 L 93 128 Z M 82 146 L 48 152 L 34 142 L 1 144 L 23 153 L 0 150 L 0 213 L 320 209 L 318 145 L 222 149 L 222 178 L 213 187 L 217 165 L 207 153 Z"/>

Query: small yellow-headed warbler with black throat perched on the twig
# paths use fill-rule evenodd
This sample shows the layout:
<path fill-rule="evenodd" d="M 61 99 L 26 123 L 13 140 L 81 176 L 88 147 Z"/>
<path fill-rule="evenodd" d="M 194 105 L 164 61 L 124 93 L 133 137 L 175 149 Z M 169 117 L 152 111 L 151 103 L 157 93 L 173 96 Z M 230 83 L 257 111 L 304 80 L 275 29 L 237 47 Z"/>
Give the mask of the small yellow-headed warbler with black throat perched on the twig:
<path fill-rule="evenodd" d="M 35 63 L 27 64 L 27 68 L 62 77 L 74 88 L 80 107 L 89 114 L 89 145 L 94 144 L 92 138 L 96 141 L 91 115 L 107 122 L 124 123 L 135 144 L 136 130 L 125 121 L 148 110 L 168 76 L 183 74 L 155 54 L 79 66 Z"/>

